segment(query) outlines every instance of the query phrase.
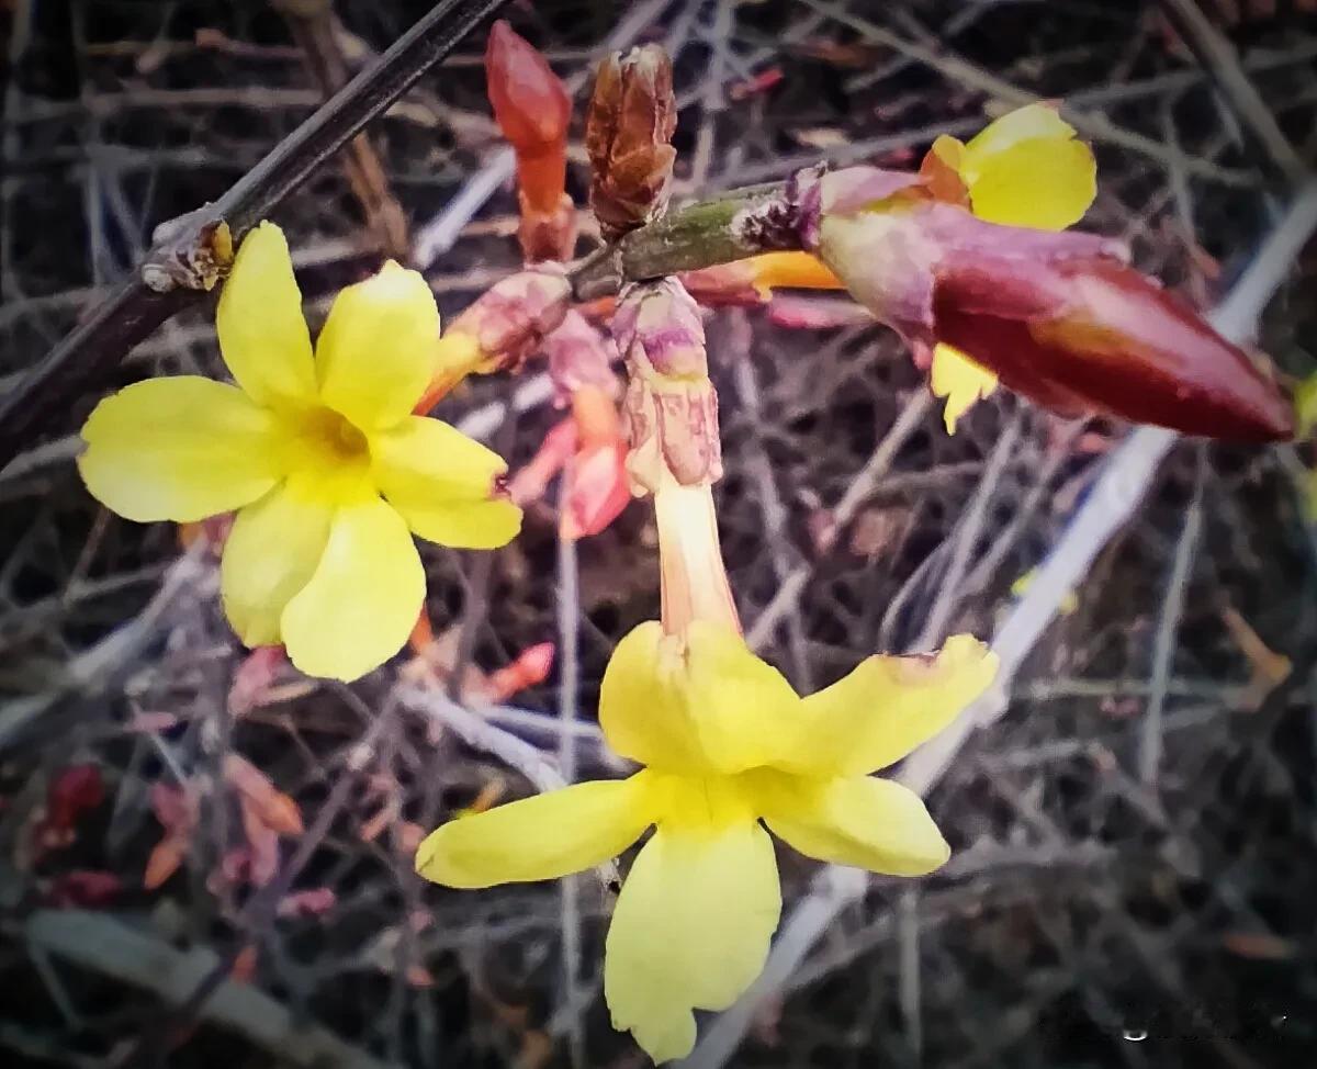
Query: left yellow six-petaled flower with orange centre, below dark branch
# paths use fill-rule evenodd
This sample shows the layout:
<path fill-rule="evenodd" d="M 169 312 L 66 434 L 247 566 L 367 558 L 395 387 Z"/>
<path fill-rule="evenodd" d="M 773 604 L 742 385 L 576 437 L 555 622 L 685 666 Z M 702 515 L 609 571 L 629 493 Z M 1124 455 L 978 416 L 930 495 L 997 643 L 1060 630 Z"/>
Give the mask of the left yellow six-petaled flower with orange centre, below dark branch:
<path fill-rule="evenodd" d="M 439 352 L 416 271 L 387 263 L 333 303 L 315 352 L 278 226 L 242 242 L 216 317 L 237 386 L 148 379 L 96 405 L 87 488 L 141 523 L 240 509 L 221 595 L 248 645 L 283 642 L 311 675 L 354 679 L 407 640 L 425 596 L 412 533 L 493 548 L 522 513 L 485 446 L 411 415 Z"/>

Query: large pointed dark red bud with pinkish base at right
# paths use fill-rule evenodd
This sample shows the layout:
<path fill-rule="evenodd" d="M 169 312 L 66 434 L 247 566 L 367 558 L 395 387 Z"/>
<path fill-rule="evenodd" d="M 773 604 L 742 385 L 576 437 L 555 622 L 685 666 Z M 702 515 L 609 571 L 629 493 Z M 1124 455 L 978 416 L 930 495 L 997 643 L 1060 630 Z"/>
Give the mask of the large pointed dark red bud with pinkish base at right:
<path fill-rule="evenodd" d="M 836 178 L 847 176 L 849 188 L 853 174 Z M 886 209 L 846 204 L 834 215 L 830 200 L 824 188 L 820 258 L 917 350 L 947 342 L 1063 415 L 1242 441 L 1292 434 L 1275 382 L 1127 267 L 1118 242 L 984 222 L 917 188 Z"/>

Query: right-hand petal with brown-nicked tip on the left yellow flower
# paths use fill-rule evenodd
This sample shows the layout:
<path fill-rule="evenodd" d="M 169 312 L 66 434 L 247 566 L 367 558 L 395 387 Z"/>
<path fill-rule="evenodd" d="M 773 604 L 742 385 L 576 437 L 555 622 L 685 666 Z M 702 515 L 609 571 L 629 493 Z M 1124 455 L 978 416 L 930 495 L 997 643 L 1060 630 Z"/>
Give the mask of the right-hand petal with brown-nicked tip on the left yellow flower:
<path fill-rule="evenodd" d="M 507 545 L 522 509 L 494 495 L 507 463 L 446 423 L 407 416 L 370 438 L 379 492 L 421 538 L 462 549 Z"/>

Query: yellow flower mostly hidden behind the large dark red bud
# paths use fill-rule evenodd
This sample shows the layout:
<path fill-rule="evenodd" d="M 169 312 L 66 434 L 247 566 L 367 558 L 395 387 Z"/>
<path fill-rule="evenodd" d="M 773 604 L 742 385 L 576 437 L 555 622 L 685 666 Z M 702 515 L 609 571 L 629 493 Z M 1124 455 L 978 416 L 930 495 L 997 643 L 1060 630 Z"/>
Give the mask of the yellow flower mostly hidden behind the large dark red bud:
<path fill-rule="evenodd" d="M 1064 230 L 1097 196 L 1093 153 L 1046 104 L 1030 104 L 985 126 L 969 143 L 943 134 L 932 151 L 964 183 L 973 213 L 988 222 Z M 997 388 L 997 377 L 959 349 L 932 352 L 932 392 L 946 398 L 947 433 Z"/>

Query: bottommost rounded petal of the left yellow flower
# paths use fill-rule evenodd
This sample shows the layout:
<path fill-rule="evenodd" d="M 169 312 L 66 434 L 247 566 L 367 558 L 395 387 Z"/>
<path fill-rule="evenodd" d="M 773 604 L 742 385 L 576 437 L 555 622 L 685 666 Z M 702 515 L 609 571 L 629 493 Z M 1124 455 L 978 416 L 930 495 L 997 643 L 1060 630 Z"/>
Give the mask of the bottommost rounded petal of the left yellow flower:
<path fill-rule="evenodd" d="M 350 681 L 402 649 L 425 600 L 407 524 L 374 498 L 335 513 L 311 581 L 283 610 L 288 660 L 307 675 Z"/>

